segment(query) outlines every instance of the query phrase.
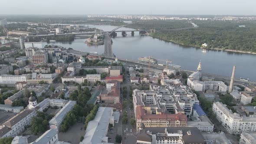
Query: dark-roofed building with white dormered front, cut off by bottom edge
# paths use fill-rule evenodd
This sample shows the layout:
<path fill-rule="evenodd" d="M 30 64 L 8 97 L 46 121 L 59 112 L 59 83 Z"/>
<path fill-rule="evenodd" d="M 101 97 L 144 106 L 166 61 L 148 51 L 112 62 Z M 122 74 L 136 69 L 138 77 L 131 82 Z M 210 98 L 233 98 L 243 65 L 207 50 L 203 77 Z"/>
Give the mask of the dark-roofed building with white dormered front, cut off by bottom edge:
<path fill-rule="evenodd" d="M 197 128 L 145 128 L 141 124 L 136 144 L 205 144 Z"/>

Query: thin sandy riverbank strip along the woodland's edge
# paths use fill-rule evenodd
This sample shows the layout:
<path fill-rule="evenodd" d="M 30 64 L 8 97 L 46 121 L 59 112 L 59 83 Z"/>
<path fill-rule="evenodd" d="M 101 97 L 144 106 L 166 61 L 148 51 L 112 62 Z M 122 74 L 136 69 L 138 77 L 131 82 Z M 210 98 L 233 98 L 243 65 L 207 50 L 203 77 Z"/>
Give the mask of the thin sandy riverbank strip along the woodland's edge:
<path fill-rule="evenodd" d="M 160 39 L 160 40 L 166 41 L 166 42 L 171 42 L 171 43 L 175 43 L 175 44 L 182 45 L 182 46 L 189 46 L 189 45 L 185 45 L 184 43 L 175 42 L 173 40 L 163 39 L 163 38 L 160 38 L 160 37 L 157 37 L 157 36 L 152 36 L 152 35 L 149 35 L 149 36 L 151 36 L 151 37 L 153 37 L 155 39 Z M 198 46 L 192 46 L 192 47 L 202 49 L 202 47 L 198 47 Z M 205 48 L 205 49 L 207 49 L 207 48 Z M 221 50 L 221 51 L 227 51 L 227 52 L 237 52 L 237 53 L 246 53 L 246 54 L 256 55 L 256 52 L 248 52 L 248 51 L 233 50 L 233 49 L 213 48 L 213 49 L 209 49 L 209 50 Z"/>

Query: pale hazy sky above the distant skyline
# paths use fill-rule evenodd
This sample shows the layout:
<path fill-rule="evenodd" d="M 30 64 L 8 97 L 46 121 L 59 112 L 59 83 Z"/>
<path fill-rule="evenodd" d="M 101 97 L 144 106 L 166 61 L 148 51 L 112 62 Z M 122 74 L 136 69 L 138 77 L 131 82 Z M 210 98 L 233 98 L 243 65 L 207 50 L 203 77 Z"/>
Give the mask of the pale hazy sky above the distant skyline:
<path fill-rule="evenodd" d="M 256 15 L 256 0 L 0 0 L 0 14 Z"/>

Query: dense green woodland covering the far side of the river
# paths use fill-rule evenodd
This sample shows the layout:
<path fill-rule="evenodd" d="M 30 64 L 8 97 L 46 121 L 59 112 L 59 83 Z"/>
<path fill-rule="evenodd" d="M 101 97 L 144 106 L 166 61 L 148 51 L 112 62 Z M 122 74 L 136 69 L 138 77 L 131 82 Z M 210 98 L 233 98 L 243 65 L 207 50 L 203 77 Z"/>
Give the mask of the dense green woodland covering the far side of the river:
<path fill-rule="evenodd" d="M 156 32 L 151 36 L 187 46 L 233 49 L 256 52 L 256 21 L 212 21 L 193 20 L 199 26 L 194 29 L 181 29 Z M 245 25 L 245 27 L 239 27 Z M 191 27 L 185 20 L 137 21 L 128 26 L 136 29 L 175 29 Z"/>

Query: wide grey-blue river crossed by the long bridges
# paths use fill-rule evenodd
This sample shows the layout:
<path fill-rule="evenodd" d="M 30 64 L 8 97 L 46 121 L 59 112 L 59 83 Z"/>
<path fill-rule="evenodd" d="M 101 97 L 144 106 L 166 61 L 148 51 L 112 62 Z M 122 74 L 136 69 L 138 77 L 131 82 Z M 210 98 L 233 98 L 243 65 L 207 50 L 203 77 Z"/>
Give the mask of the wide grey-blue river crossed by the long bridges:
<path fill-rule="evenodd" d="M 111 31 L 116 26 L 89 25 L 89 27 Z M 132 29 L 123 27 L 118 30 Z M 152 56 L 155 59 L 169 59 L 173 61 L 173 64 L 181 65 L 182 69 L 187 70 L 197 69 L 198 62 L 201 60 L 202 72 L 229 77 L 232 73 L 233 65 L 236 65 L 236 78 L 242 77 L 256 80 L 256 55 L 217 50 L 202 52 L 198 48 L 165 42 L 154 39 L 151 36 L 139 36 L 136 32 L 133 37 L 130 32 L 127 33 L 126 37 L 122 37 L 121 33 L 117 35 L 117 37 L 112 39 L 112 50 L 116 57 L 133 60 L 138 60 L 142 56 Z M 85 52 L 98 52 L 98 54 L 104 52 L 104 45 L 89 46 L 84 42 L 85 39 L 75 39 L 72 43 L 55 43 L 55 45 Z M 158 60 L 158 63 L 165 64 L 164 61 L 160 60 Z"/>

